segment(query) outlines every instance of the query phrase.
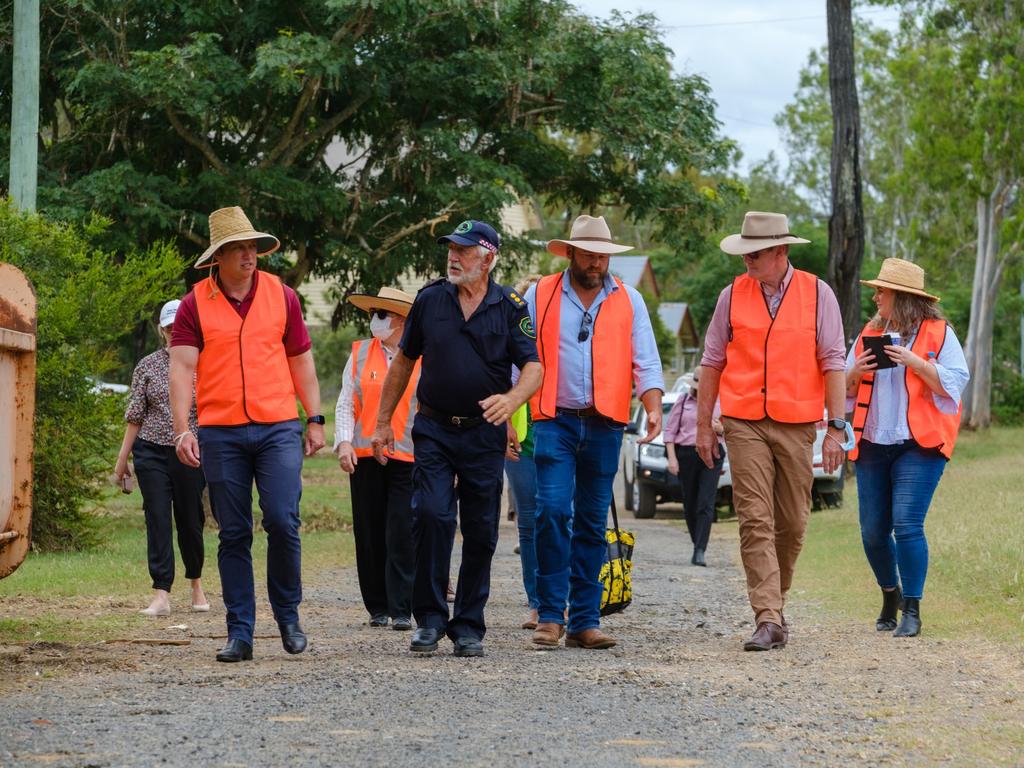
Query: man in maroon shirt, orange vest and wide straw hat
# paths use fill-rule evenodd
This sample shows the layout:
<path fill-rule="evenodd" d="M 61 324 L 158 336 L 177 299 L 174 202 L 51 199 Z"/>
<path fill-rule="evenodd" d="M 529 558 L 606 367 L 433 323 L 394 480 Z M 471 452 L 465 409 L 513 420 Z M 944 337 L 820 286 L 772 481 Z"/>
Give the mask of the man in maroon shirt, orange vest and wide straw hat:
<path fill-rule="evenodd" d="M 241 208 L 210 214 L 209 267 L 181 301 L 171 339 L 171 413 L 178 458 L 202 466 L 220 524 L 217 564 L 227 609 L 227 643 L 218 662 L 252 658 L 256 592 L 252 566 L 252 485 L 267 532 L 270 607 L 289 653 L 306 648 L 299 498 L 302 455 L 324 445 L 319 384 L 295 292 L 256 259 L 281 247 Z M 188 431 L 193 378 L 199 440 Z M 303 439 L 295 398 L 309 415 Z"/>

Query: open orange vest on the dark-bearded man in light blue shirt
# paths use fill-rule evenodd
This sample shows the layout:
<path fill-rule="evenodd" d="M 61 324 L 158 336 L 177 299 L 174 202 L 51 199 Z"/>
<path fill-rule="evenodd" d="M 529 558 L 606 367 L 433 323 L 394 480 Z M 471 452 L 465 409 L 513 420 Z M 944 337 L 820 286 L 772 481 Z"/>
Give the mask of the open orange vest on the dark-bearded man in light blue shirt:
<path fill-rule="evenodd" d="M 537 284 L 537 352 L 544 367 L 544 381 L 529 400 L 534 421 L 553 419 L 558 406 L 563 274 L 549 274 Z M 633 396 L 633 302 L 623 282 L 618 278 L 614 281 L 618 290 L 601 302 L 591 334 L 594 408 L 601 416 L 625 424 L 630 420 Z M 581 342 L 573 336 L 564 343 Z"/>

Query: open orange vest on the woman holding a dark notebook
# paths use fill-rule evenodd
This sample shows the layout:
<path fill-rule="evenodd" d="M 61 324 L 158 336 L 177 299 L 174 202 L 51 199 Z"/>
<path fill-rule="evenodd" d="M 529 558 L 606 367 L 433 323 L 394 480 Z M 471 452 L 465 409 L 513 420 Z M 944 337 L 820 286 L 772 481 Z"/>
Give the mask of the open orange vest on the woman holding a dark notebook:
<path fill-rule="evenodd" d="M 921 324 L 921 329 L 914 337 L 910 350 L 921 357 L 928 359 L 929 352 L 934 352 L 939 356 L 942 345 L 946 342 L 946 333 L 949 327 L 943 319 L 926 319 Z M 864 330 L 857 337 L 855 356 L 859 356 L 864 351 L 865 336 L 881 336 L 882 332 L 864 326 Z M 906 425 L 910 430 L 910 436 L 922 447 L 935 447 L 949 459 L 953 455 L 953 446 L 956 444 L 956 436 L 959 433 L 961 411 L 964 406 L 957 407 L 955 414 L 944 414 L 935 407 L 935 398 L 932 390 L 916 374 L 910 371 L 904 372 L 906 382 Z M 857 387 L 857 401 L 853 407 L 853 438 L 857 444 L 849 454 L 850 461 L 856 461 L 860 453 L 860 436 L 864 432 L 864 423 L 867 421 L 867 409 L 870 408 L 871 398 L 874 396 L 874 372 L 867 371 L 860 380 Z"/>

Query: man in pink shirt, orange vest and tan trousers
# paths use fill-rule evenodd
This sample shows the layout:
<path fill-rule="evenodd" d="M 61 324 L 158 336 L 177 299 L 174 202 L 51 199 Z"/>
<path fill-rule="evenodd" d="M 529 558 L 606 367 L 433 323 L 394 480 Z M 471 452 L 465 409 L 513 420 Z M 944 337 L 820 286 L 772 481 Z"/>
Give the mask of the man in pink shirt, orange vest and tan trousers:
<path fill-rule="evenodd" d="M 721 397 L 757 625 L 744 650 L 788 641 L 782 608 L 811 512 L 812 446 L 824 404 L 831 417 L 821 449 L 825 472 L 843 463 L 847 442 L 839 303 L 823 281 L 790 263 L 790 246 L 808 242 L 790 233 L 784 215 L 758 211 L 722 241 L 725 253 L 742 256 L 746 273 L 720 294 L 700 361 L 696 450 L 709 467 L 719 457 L 712 411 Z"/>

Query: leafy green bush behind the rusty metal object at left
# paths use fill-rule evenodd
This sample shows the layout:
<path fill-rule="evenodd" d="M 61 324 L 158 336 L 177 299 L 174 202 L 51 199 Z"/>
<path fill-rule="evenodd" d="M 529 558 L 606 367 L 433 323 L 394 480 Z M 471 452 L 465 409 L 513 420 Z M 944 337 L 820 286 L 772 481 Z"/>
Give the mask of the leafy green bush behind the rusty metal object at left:
<path fill-rule="evenodd" d="M 96 543 L 86 512 L 119 444 L 124 401 L 93 391 L 117 366 L 118 340 L 159 303 L 180 295 L 183 265 L 168 244 L 115 255 L 90 245 L 109 222 L 84 229 L 22 214 L 0 202 L 0 260 L 32 281 L 38 299 L 33 543 Z"/>

